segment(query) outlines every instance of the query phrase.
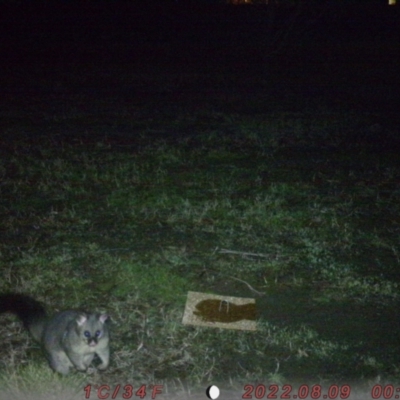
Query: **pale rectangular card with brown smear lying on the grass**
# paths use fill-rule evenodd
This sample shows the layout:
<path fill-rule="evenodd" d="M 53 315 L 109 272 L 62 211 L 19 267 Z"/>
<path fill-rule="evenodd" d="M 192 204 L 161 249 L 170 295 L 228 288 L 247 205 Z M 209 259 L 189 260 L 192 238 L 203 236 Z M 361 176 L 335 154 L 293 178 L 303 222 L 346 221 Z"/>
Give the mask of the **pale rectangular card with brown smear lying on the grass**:
<path fill-rule="evenodd" d="M 245 297 L 188 292 L 182 323 L 255 331 L 256 301 Z"/>

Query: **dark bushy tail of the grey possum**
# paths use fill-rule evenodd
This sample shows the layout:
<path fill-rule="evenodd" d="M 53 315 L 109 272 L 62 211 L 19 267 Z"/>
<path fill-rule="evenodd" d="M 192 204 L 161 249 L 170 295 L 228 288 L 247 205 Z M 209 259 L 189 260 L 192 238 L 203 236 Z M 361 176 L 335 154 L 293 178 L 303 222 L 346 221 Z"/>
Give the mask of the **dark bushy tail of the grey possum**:
<path fill-rule="evenodd" d="M 38 342 L 41 341 L 47 314 L 41 303 L 30 296 L 17 293 L 0 295 L 0 314 L 16 314 Z"/>

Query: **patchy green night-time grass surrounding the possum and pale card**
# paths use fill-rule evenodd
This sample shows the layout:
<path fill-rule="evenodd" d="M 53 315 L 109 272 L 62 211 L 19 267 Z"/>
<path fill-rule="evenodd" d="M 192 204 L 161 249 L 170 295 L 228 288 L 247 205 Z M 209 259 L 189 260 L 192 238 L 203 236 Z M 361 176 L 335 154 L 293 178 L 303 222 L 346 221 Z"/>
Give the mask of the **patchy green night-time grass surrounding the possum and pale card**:
<path fill-rule="evenodd" d="M 162 122 L 133 144 L 3 142 L 0 291 L 110 313 L 92 383 L 398 379 L 400 170 L 346 141 L 368 118 L 202 110 L 160 139 Z M 183 326 L 188 290 L 256 297 L 258 331 Z M 3 372 L 24 376 L 44 358 L 3 318 Z"/>

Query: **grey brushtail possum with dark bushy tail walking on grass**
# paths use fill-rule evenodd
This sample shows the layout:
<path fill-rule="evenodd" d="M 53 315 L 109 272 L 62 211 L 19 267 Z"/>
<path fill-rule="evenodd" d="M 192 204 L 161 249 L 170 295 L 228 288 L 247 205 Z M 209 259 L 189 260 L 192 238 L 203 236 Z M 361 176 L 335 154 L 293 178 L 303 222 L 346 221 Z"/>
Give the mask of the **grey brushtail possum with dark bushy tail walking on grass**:
<path fill-rule="evenodd" d="M 51 368 L 63 375 L 70 367 L 86 371 L 95 354 L 100 358 L 98 369 L 108 367 L 110 360 L 107 314 L 82 311 L 61 311 L 48 317 L 41 303 L 30 296 L 8 293 L 0 295 L 0 313 L 16 314 L 39 342 Z"/>

